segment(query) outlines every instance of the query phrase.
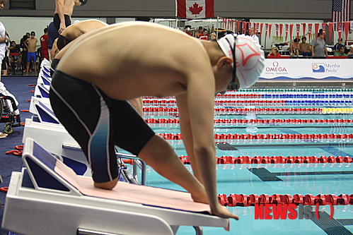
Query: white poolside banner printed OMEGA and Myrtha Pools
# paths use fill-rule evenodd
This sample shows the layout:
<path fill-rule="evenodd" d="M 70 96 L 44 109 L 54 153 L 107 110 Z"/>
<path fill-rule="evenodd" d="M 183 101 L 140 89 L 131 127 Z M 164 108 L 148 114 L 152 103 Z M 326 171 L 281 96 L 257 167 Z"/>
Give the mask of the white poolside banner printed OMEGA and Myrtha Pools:
<path fill-rule="evenodd" d="M 265 59 L 260 79 L 352 80 L 353 59 Z"/>

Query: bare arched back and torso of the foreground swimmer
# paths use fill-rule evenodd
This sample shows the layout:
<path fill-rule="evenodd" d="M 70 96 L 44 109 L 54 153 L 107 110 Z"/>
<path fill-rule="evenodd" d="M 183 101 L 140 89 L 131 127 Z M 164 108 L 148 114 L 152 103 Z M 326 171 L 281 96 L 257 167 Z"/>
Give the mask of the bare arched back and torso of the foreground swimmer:
<path fill-rule="evenodd" d="M 71 45 L 57 70 L 117 100 L 180 95 L 190 79 L 214 83 L 202 43 L 154 23 L 118 23 L 88 32 Z"/>

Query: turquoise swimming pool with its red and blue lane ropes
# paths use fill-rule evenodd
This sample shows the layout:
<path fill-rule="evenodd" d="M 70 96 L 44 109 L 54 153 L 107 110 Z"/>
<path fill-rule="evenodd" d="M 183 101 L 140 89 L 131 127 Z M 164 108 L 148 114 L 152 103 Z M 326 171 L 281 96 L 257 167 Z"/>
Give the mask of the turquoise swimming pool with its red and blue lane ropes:
<path fill-rule="evenodd" d="M 254 89 L 230 94 L 216 97 L 215 101 L 217 157 L 352 159 L 351 90 Z M 178 123 L 173 121 L 178 119 L 173 99 L 149 101 L 145 102 L 144 118 L 156 133 L 173 134 L 172 140 L 167 141 L 179 156 L 187 155 L 183 141 L 178 139 Z M 324 162 L 217 164 L 218 193 L 352 195 L 352 163 Z M 190 165 L 186 167 L 191 171 Z M 150 168 L 146 179 L 150 186 L 183 191 Z M 315 213 L 312 219 L 255 219 L 253 206 L 228 209 L 240 217 L 238 222 L 231 221 L 231 231 L 204 227 L 204 234 L 353 234 L 352 205 L 334 205 L 332 219 L 329 219 L 330 205 L 319 206 L 320 219 L 316 219 Z M 194 233 L 192 227 L 180 227 L 178 231 L 178 234 Z"/>

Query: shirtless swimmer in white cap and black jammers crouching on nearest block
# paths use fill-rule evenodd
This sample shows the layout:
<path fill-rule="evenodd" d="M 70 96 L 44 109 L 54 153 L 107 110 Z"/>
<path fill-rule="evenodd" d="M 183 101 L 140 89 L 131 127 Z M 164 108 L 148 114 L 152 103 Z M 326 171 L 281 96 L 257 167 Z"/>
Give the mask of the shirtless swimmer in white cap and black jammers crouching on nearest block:
<path fill-rule="evenodd" d="M 155 23 L 109 25 L 71 43 L 54 72 L 50 102 L 88 157 L 94 186 L 116 186 L 115 144 L 185 188 L 196 202 L 209 203 L 212 214 L 238 219 L 217 199 L 214 95 L 249 88 L 263 61 L 260 46 L 244 35 L 208 42 Z M 195 176 L 125 101 L 171 95 Z"/>

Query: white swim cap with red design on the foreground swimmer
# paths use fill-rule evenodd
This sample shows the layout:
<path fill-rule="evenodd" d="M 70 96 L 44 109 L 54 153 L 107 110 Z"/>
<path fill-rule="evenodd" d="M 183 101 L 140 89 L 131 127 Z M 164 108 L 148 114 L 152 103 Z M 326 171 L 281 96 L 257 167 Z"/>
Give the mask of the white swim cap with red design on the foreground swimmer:
<path fill-rule="evenodd" d="M 226 56 L 233 59 L 234 45 L 236 58 L 236 76 L 238 89 L 250 88 L 259 79 L 264 68 L 264 52 L 250 36 L 228 34 L 217 41 Z"/>

